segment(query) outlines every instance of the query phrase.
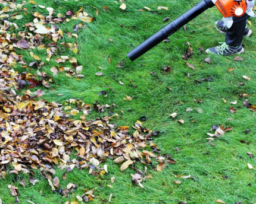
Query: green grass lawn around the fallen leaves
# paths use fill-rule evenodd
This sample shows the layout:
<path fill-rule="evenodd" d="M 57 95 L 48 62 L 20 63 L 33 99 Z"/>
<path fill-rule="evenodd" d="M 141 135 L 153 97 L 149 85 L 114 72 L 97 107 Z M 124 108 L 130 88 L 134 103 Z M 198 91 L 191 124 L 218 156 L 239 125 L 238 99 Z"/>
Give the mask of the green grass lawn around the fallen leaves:
<path fill-rule="evenodd" d="M 21 2 L 21 1 L 17 1 Z M 143 181 L 142 189 L 132 184 L 130 174 L 135 171 L 128 168 L 120 172 L 120 165 L 113 161 L 107 161 L 108 172 L 101 179 L 88 174 L 88 170 L 74 169 L 67 175 L 67 180 L 62 180 L 64 171 L 57 170 L 56 176 L 60 178 L 60 186 L 64 189 L 68 182 L 76 183 L 76 189 L 70 197 L 63 197 L 53 193 L 48 181 L 42 177 L 40 171 L 33 171 L 35 178 L 39 180 L 35 186 L 27 181 L 28 176 L 13 174 L 8 175 L 5 180 L 0 181 L 0 197 L 3 203 L 15 203 L 14 197 L 10 195 L 8 184 L 18 187 L 21 203 L 64 203 L 67 200 L 75 201 L 76 195 L 83 195 L 86 190 L 94 189 L 95 199 L 93 203 L 105 203 L 113 193 L 111 203 L 214 203 L 216 199 L 224 200 L 226 203 L 256 203 L 255 193 L 255 170 L 249 169 L 247 163 L 256 166 L 255 158 L 249 158 L 246 152 L 256 154 L 255 150 L 255 113 L 243 107 L 245 98 L 238 94 L 246 93 L 250 97 L 249 103 L 256 104 L 256 53 L 255 53 L 255 24 L 254 18 L 250 19 L 252 36 L 243 39 L 245 53 L 241 56 L 244 60 L 236 61 L 234 56 L 210 56 L 211 64 L 204 62 L 207 55 L 198 52 L 199 47 L 217 46 L 218 42 L 224 42 L 224 35 L 214 28 L 215 21 L 221 18 L 216 8 L 208 9 L 195 20 L 186 25 L 186 31 L 182 28 L 171 36 L 170 42 L 160 43 L 154 49 L 145 53 L 141 58 L 130 62 L 126 54 L 135 46 L 142 43 L 148 37 L 164 27 L 164 18 L 171 20 L 188 11 L 199 1 L 155 1 L 155 0 L 127 0 L 126 10 L 121 10 L 119 1 L 36 1 L 39 5 L 52 7 L 56 13 L 65 14 L 68 9 L 74 12 L 80 7 L 85 8 L 88 14 L 96 17 L 96 21 L 86 24 L 77 32 L 79 38 L 68 38 L 65 34 L 61 42 L 79 44 L 79 53 L 74 54 L 68 49 L 58 50 L 61 55 L 68 55 L 77 59 L 78 65 L 83 65 L 82 74 L 85 78 L 77 81 L 76 78 L 68 78 L 65 74 L 53 76 L 50 69 L 58 66 L 54 62 L 56 55 L 50 62 L 45 59 L 45 50 L 31 50 L 46 63 L 39 71 L 45 71 L 54 79 L 51 88 L 42 88 L 48 101 L 60 101 L 64 103 L 70 98 L 80 98 L 85 103 L 113 104 L 117 108 L 112 110 L 119 114 L 118 119 L 113 122 L 121 125 L 134 125 L 136 120 L 145 116 L 143 125 L 152 129 L 160 130 L 161 134 L 154 142 L 161 148 L 161 154 L 170 154 L 176 164 L 167 165 L 163 172 L 154 171 L 157 163 L 148 166 L 148 173 L 152 179 Z M 103 11 L 107 6 L 111 11 Z M 168 11 L 158 11 L 157 7 L 168 7 Z M 2 5 L 1 5 L 2 7 Z M 15 20 L 19 30 L 23 30 L 24 23 L 32 22 L 32 12 L 39 11 L 47 15 L 46 9 L 32 8 L 33 4 L 26 4 L 28 12 L 23 12 L 24 18 Z M 99 15 L 96 16 L 96 9 Z M 151 8 L 151 11 L 140 12 L 143 7 Z M 75 24 L 79 20 L 71 20 L 60 24 L 64 33 L 73 32 Z M 122 26 L 120 26 L 123 24 Z M 17 32 L 17 31 L 14 31 Z M 10 31 L 11 33 L 11 31 Z M 111 42 L 109 39 L 113 39 Z M 189 42 L 193 49 L 193 55 L 188 61 L 181 56 L 188 49 Z M 60 46 L 61 47 L 61 46 Z M 33 61 L 29 51 L 16 50 L 18 54 L 24 55 L 28 63 Z M 111 63 L 108 62 L 111 59 Z M 116 65 L 123 60 L 123 67 Z M 189 68 L 185 62 L 192 63 L 195 70 Z M 61 65 L 61 64 L 60 64 Z M 71 66 L 65 63 L 62 66 Z M 102 69 L 98 68 L 101 67 Z M 164 72 L 164 66 L 171 66 L 170 73 Z M 230 68 L 235 68 L 229 72 Z M 27 71 L 36 73 L 36 69 L 17 67 L 20 72 Z M 95 75 L 102 72 L 102 76 Z M 157 75 L 152 75 L 155 72 Z M 188 78 L 188 73 L 190 77 Z M 246 75 L 251 81 L 243 79 Z M 213 82 L 204 81 L 202 78 L 213 77 Z M 130 84 L 132 80 L 134 87 Z M 123 82 L 121 85 L 119 81 Z M 239 86 L 243 82 L 245 85 Z M 113 91 L 109 88 L 111 87 Z M 166 87 L 171 88 L 168 90 Z M 99 95 L 100 91 L 107 91 L 107 97 Z M 63 94 L 58 96 L 57 94 Z M 132 101 L 123 100 L 126 95 L 133 98 Z M 224 103 L 223 98 L 227 101 Z M 195 103 L 193 100 L 204 101 Z M 230 102 L 238 101 L 233 105 Z M 230 112 L 230 106 L 237 109 L 236 113 Z M 186 109 L 193 109 L 186 112 Z M 196 109 L 201 109 L 199 113 Z M 121 113 L 123 110 L 124 113 Z M 177 117 L 169 115 L 177 112 Z M 92 114 L 88 118 L 104 116 L 106 113 Z M 79 116 L 74 117 L 79 119 Z M 183 119 L 184 124 L 178 122 Z M 213 144 L 207 144 L 207 132 L 213 125 L 231 126 L 233 130 L 226 132 L 223 137 L 214 140 Z M 246 133 L 249 129 L 251 132 Z M 131 130 L 132 133 L 132 130 Z M 213 133 L 213 132 L 211 132 Z M 239 141 L 246 141 L 241 143 Z M 179 148 L 176 151 L 174 148 Z M 136 168 L 144 169 L 144 165 L 137 162 Z M 8 170 L 9 171 L 9 170 Z M 191 178 L 176 178 L 175 175 Z M 111 184 L 110 178 L 115 177 L 115 183 Z M 19 184 L 20 178 L 27 181 L 26 187 Z M 173 181 L 180 180 L 182 184 L 174 184 Z M 107 187 L 111 184 L 113 189 Z M 42 190 L 42 194 L 40 194 Z"/>

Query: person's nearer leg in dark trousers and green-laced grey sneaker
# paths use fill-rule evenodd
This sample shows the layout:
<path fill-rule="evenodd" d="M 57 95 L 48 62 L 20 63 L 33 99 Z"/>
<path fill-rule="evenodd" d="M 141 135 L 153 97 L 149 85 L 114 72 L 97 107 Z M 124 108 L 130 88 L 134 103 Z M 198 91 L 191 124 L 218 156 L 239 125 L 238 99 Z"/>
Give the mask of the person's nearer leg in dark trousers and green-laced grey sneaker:
<path fill-rule="evenodd" d="M 246 20 L 236 22 L 234 18 L 233 25 L 226 30 L 226 40 L 220 46 L 211 47 L 206 50 L 207 53 L 216 55 L 234 55 L 244 51 L 242 47 L 243 34 L 245 33 Z"/>

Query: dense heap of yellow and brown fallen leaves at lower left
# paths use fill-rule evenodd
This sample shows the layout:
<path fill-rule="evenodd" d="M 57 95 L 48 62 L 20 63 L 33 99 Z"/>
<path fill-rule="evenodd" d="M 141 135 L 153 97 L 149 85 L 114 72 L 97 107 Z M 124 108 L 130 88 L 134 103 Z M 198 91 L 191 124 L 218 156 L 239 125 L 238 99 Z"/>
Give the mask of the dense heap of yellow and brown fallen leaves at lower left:
<path fill-rule="evenodd" d="M 40 169 L 48 179 L 51 189 L 55 191 L 55 187 L 58 188 L 59 184 L 52 184 L 50 174 L 55 174 L 56 165 L 66 170 L 64 174 L 72 171 L 74 167 L 88 168 L 89 174 L 98 177 L 107 172 L 107 165 L 100 167 L 106 158 L 113 159 L 117 164 L 122 163 L 121 171 L 135 162 L 151 164 L 152 158 L 160 162 L 157 165 L 158 171 L 165 167 L 165 158 L 155 155 L 160 150 L 152 142 L 152 137 L 157 136 L 158 131 L 146 129 L 142 127 L 140 121 L 137 121 L 135 126 L 132 126 L 134 131 L 130 135 L 129 126 L 110 123 L 109 116 L 87 121 L 85 115 L 82 115 L 80 120 L 69 119 L 64 113 L 63 104 L 35 100 L 42 95 L 42 90 L 38 90 L 35 94 L 28 90 L 23 96 L 17 95 L 14 90 L 1 91 L 0 176 L 2 178 L 7 175 L 7 165 L 14 167 L 14 170 L 10 171 L 14 174 L 31 173 L 32 169 Z M 77 109 L 86 112 L 90 110 L 88 104 L 79 104 Z M 150 146 L 152 151 L 143 150 L 146 146 Z M 73 149 L 77 158 L 71 160 L 70 154 Z M 174 163 L 171 158 L 169 160 L 170 163 Z M 54 178 L 54 183 L 56 179 L 58 180 L 58 177 Z M 35 178 L 32 180 L 34 182 Z M 140 184 L 138 178 L 135 178 L 135 182 Z M 61 193 L 68 196 L 75 187 L 76 185 L 72 184 Z M 11 192 L 15 187 L 12 188 Z M 17 196 L 17 190 L 14 192 L 16 193 L 11 194 Z"/>

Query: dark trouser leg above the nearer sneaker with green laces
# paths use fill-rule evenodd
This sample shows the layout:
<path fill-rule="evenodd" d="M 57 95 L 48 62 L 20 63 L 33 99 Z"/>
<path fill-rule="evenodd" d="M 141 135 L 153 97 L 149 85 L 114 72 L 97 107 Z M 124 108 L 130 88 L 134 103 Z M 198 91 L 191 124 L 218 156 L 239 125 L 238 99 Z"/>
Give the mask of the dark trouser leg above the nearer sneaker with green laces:
<path fill-rule="evenodd" d="M 235 19 L 234 19 L 235 20 Z M 226 44 L 229 46 L 239 46 L 242 44 L 243 34 L 245 33 L 245 26 L 247 20 L 243 20 L 239 23 L 233 23 L 233 25 L 226 31 Z"/>

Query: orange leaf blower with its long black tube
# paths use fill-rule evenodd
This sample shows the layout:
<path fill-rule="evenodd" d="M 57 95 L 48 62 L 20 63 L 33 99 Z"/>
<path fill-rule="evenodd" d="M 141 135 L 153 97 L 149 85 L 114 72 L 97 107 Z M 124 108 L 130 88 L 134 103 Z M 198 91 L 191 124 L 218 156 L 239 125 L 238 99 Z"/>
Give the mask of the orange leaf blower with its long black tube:
<path fill-rule="evenodd" d="M 189 23 L 189 21 L 193 20 L 193 18 L 197 17 L 208 8 L 214 7 L 214 5 L 223 15 L 223 21 L 228 28 L 232 26 L 233 21 L 238 23 L 246 20 L 250 16 L 255 17 L 254 12 L 252 11 L 252 8 L 254 7 L 254 0 L 202 0 L 196 4 L 195 7 L 185 12 L 185 14 L 182 14 L 179 18 L 166 25 L 166 27 L 162 28 L 153 36 L 149 37 L 148 40 L 139 44 L 139 46 L 130 51 L 127 56 L 132 61 L 139 58 L 139 56 L 148 52 L 152 47 L 175 33 L 179 28 L 183 27 L 186 23 Z M 233 17 L 240 18 L 235 18 L 235 20 L 233 20 Z"/>

